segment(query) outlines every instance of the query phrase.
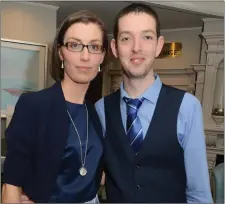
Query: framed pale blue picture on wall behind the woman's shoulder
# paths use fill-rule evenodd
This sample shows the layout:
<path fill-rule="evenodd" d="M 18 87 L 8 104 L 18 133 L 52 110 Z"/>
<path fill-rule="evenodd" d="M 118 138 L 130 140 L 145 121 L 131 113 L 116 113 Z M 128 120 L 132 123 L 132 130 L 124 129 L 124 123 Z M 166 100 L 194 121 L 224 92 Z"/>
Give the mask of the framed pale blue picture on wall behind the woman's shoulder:
<path fill-rule="evenodd" d="M 1 38 L 1 118 L 23 93 L 47 86 L 48 45 Z"/>

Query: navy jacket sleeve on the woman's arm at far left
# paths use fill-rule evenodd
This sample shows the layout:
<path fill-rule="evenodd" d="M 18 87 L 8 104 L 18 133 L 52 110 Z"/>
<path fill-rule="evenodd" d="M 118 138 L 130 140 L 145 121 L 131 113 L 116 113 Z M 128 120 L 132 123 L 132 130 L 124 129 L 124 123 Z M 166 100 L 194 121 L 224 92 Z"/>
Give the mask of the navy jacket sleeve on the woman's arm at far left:
<path fill-rule="evenodd" d="M 3 182 L 14 186 L 24 185 L 34 146 L 35 114 L 29 99 L 29 94 L 20 96 L 6 129 L 7 153 Z"/>

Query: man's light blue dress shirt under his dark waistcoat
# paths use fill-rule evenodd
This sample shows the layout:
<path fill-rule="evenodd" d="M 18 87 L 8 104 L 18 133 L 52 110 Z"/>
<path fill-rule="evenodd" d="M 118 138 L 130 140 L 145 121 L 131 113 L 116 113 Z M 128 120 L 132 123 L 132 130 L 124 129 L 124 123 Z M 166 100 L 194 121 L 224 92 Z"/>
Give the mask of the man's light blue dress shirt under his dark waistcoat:
<path fill-rule="evenodd" d="M 162 82 L 158 75 L 156 80 L 141 96 L 145 100 L 138 111 L 141 120 L 143 135 L 146 135 L 151 122 Z M 124 129 L 126 128 L 126 103 L 123 97 L 130 97 L 120 85 L 120 109 Z M 168 104 L 170 108 L 172 104 Z M 95 107 L 105 132 L 104 98 L 96 102 Z M 163 127 L 162 127 L 163 128 Z M 166 135 L 165 135 L 166 136 Z M 199 100 L 190 93 L 185 93 L 180 106 L 177 120 L 177 139 L 184 150 L 184 161 L 187 175 L 186 196 L 188 203 L 213 203 L 209 184 L 207 154 L 205 144 L 202 108 Z M 171 185 L 173 185 L 171 183 Z"/>

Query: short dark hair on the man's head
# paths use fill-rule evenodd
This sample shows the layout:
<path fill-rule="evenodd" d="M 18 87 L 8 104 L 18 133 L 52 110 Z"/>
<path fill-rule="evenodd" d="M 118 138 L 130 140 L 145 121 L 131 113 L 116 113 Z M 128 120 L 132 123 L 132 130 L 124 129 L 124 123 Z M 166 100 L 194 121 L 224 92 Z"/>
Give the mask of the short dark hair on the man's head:
<path fill-rule="evenodd" d="M 152 16 L 156 21 L 156 34 L 157 34 L 157 38 L 159 38 L 160 23 L 159 23 L 159 17 L 157 15 L 157 13 L 155 12 L 155 10 L 146 4 L 132 3 L 128 6 L 126 6 L 125 8 L 123 8 L 116 16 L 114 30 L 113 30 L 113 36 L 114 36 L 115 40 L 117 40 L 117 37 L 118 37 L 118 31 L 119 31 L 118 25 L 119 25 L 120 18 L 122 18 L 123 16 L 126 16 L 127 14 L 130 14 L 130 13 L 146 13 L 146 14 Z"/>

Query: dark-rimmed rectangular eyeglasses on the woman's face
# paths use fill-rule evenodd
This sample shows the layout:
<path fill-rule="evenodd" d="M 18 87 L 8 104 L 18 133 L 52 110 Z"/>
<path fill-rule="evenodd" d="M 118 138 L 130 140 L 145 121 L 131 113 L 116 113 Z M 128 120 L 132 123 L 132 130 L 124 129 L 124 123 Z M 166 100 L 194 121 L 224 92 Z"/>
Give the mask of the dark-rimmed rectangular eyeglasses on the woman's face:
<path fill-rule="evenodd" d="M 77 42 L 66 42 L 64 46 L 71 52 L 82 52 L 84 47 L 87 47 L 88 52 L 92 54 L 101 54 L 104 51 L 103 46 L 98 44 L 84 45 Z"/>

